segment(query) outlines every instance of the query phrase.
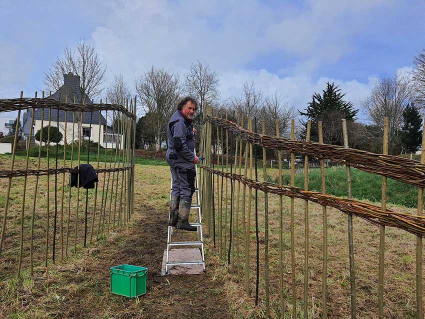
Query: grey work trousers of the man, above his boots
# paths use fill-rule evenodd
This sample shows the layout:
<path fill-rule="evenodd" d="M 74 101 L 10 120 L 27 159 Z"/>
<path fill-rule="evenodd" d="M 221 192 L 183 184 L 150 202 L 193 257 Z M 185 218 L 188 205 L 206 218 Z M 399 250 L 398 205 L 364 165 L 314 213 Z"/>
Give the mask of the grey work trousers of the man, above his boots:
<path fill-rule="evenodd" d="M 180 199 L 192 199 L 195 191 L 195 170 L 181 165 L 172 165 L 171 196 L 180 196 Z"/>

